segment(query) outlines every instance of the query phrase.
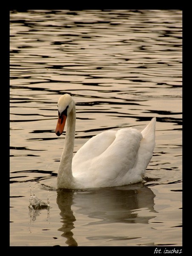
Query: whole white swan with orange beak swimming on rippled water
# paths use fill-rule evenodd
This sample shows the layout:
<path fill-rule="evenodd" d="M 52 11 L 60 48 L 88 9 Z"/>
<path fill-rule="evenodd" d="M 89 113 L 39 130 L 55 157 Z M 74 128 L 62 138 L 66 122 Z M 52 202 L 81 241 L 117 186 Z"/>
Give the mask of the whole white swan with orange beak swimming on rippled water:
<path fill-rule="evenodd" d="M 155 117 L 141 132 L 135 128 L 104 131 L 88 140 L 73 157 L 76 109 L 69 94 L 59 98 L 58 113 L 57 136 L 62 134 L 67 119 L 58 188 L 99 188 L 142 181 L 155 148 Z"/>

